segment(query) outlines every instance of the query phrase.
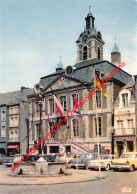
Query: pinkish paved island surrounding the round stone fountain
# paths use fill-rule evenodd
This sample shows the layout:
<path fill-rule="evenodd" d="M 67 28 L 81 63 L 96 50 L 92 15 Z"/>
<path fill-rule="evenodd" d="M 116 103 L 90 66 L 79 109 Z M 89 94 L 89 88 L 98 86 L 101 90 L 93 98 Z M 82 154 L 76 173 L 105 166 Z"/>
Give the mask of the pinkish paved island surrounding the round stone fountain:
<path fill-rule="evenodd" d="M 54 177 L 21 177 L 12 176 L 10 168 L 4 167 L 1 171 L 0 185 L 52 185 L 64 183 L 80 183 L 99 180 L 99 172 L 84 169 L 68 169 L 71 175 L 61 175 Z M 101 178 L 105 179 L 107 173 L 101 172 Z"/>

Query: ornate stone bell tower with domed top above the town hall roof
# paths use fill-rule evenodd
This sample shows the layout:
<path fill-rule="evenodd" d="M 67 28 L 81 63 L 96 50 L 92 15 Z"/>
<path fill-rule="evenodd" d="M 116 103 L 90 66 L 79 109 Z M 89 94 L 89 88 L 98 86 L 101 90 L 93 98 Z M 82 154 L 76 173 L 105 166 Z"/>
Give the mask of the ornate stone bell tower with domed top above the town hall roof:
<path fill-rule="evenodd" d="M 103 44 L 101 33 L 95 30 L 94 16 L 89 12 L 86 20 L 86 29 L 76 41 L 77 43 L 77 63 L 97 58 L 103 60 Z"/>

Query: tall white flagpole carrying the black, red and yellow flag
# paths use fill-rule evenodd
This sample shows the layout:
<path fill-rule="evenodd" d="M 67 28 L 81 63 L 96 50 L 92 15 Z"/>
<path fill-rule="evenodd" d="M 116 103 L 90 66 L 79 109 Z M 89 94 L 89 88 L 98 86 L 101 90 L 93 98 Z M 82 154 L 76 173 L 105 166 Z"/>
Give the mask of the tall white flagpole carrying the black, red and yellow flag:
<path fill-rule="evenodd" d="M 94 88 L 96 88 L 96 69 L 94 69 Z M 98 165 L 99 165 L 99 179 L 101 179 L 101 168 L 100 168 L 100 149 L 99 149 L 99 126 L 98 126 L 98 114 L 97 114 L 97 100 L 95 93 L 95 110 L 96 110 L 96 124 L 97 124 L 97 142 L 98 142 Z"/>

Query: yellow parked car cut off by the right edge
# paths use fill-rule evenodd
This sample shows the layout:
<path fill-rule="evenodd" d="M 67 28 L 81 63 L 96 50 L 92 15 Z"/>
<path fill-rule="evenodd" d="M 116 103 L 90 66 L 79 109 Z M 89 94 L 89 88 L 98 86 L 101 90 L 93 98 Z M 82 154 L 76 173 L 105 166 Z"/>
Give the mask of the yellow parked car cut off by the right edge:
<path fill-rule="evenodd" d="M 130 172 L 137 169 L 137 152 L 123 153 L 119 159 L 113 160 L 110 165 L 111 169 L 128 169 Z"/>

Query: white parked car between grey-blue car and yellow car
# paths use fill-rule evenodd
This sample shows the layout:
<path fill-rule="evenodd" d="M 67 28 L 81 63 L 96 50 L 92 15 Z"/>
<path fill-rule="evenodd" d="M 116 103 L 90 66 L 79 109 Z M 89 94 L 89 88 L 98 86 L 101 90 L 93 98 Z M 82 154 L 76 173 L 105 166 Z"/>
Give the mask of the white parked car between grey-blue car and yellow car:
<path fill-rule="evenodd" d="M 100 168 L 109 170 L 110 163 L 113 159 L 118 158 L 115 155 L 101 155 L 100 156 Z M 89 160 L 86 165 L 86 169 L 99 169 L 99 160 Z"/>

